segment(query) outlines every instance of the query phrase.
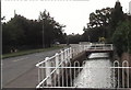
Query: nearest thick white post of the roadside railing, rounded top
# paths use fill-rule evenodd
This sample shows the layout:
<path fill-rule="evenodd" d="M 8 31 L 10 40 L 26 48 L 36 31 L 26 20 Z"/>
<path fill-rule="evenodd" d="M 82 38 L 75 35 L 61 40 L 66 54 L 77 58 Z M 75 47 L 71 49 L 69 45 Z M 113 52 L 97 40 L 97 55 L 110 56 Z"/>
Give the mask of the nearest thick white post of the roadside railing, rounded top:
<path fill-rule="evenodd" d="M 50 61 L 49 61 L 49 57 L 46 57 L 45 60 L 46 60 L 46 63 L 45 63 L 45 66 L 46 66 L 46 77 L 49 77 L 47 79 L 47 86 L 51 86 L 51 76 L 50 76 L 51 69 L 49 68 L 49 67 L 51 67 L 51 65 L 50 65 Z"/>

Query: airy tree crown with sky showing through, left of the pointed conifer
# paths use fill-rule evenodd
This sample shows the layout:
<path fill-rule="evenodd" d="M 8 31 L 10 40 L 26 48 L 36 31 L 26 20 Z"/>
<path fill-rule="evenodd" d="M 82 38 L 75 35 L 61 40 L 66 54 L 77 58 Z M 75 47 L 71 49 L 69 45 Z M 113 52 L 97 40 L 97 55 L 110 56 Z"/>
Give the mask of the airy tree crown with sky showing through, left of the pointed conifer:
<path fill-rule="evenodd" d="M 107 26 L 110 21 L 111 8 L 106 8 L 102 10 L 96 10 L 90 14 L 90 23 L 87 23 L 87 27 L 99 27 Z"/>

